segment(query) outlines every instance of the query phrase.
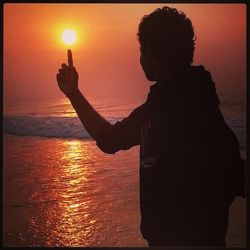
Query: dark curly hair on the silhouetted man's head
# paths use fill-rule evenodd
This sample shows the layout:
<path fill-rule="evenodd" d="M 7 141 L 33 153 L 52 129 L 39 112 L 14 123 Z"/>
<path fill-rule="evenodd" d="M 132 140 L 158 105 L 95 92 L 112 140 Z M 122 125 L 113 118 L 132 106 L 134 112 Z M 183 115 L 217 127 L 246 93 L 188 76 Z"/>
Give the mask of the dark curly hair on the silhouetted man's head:
<path fill-rule="evenodd" d="M 141 50 L 147 45 L 160 62 L 190 65 L 193 62 L 195 35 L 192 22 L 175 8 L 158 8 L 145 15 L 139 24 Z"/>

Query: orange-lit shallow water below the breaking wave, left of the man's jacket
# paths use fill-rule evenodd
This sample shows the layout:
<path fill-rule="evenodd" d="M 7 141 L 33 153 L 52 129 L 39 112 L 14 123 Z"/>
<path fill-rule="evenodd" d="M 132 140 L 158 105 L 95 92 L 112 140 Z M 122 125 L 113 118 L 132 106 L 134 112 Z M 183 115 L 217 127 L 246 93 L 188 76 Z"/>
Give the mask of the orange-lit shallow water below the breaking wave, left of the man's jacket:
<path fill-rule="evenodd" d="M 25 148 L 26 138 L 12 139 L 19 141 L 20 151 Z M 12 153 L 9 145 L 6 155 Z M 25 154 L 5 161 L 12 178 L 5 186 L 6 244 L 133 246 L 140 233 L 138 162 L 130 165 L 138 151 L 131 152 L 119 155 L 113 167 L 114 157 L 104 155 L 94 141 L 29 139 Z"/>

